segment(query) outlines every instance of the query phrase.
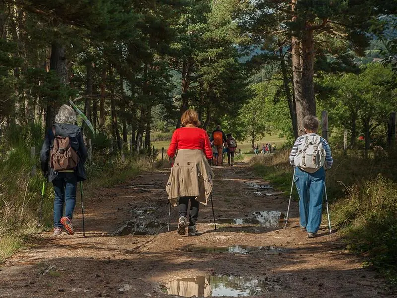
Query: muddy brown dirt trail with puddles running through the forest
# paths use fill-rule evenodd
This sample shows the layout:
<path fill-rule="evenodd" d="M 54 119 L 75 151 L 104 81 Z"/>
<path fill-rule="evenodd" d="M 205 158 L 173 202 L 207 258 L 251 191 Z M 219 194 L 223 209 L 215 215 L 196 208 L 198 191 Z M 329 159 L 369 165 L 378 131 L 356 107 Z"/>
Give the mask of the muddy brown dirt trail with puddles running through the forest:
<path fill-rule="evenodd" d="M 214 168 L 214 230 L 201 207 L 197 237 L 176 233 L 164 190 L 169 170 L 99 189 L 86 201 L 86 237 L 36 235 L 0 267 L 0 297 L 391 297 L 375 272 L 322 226 L 308 239 L 288 198 L 240 164 Z"/>

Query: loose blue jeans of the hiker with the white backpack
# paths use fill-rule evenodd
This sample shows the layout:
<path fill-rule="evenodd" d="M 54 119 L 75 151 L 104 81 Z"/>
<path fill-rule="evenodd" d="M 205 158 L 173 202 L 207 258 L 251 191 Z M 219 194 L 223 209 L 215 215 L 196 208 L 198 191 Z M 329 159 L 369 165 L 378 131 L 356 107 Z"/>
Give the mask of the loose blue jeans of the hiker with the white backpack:
<path fill-rule="evenodd" d="M 295 168 L 295 185 L 299 194 L 300 225 L 308 233 L 317 233 L 321 224 L 324 192 L 324 168 L 315 173 L 307 173 Z"/>

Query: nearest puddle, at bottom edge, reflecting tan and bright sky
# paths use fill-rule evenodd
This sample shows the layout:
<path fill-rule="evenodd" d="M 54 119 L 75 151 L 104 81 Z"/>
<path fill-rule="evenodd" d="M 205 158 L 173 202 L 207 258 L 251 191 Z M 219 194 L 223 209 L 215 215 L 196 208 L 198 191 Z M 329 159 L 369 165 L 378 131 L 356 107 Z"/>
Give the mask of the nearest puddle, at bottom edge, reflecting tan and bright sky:
<path fill-rule="evenodd" d="M 281 289 L 281 281 L 239 276 L 199 276 L 168 282 L 164 292 L 183 297 L 247 297 Z"/>

